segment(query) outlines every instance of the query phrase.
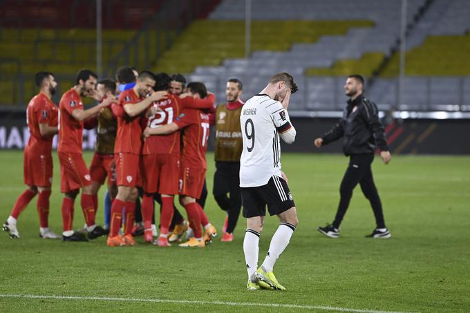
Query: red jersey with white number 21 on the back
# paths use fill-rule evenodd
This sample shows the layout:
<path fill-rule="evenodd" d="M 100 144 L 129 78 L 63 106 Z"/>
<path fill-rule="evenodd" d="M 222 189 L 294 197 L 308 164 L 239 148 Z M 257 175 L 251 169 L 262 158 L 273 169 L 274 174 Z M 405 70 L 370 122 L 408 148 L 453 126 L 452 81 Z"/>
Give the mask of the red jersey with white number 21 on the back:
<path fill-rule="evenodd" d="M 192 97 L 191 97 L 192 99 Z M 152 105 L 160 108 L 161 111 L 151 115 L 147 121 L 147 126 L 155 129 L 162 125 L 171 124 L 182 112 L 182 99 L 171 93 L 167 99 L 154 102 Z M 143 155 L 148 154 L 180 154 L 180 132 L 176 131 L 169 135 L 150 136 L 145 139 Z"/>

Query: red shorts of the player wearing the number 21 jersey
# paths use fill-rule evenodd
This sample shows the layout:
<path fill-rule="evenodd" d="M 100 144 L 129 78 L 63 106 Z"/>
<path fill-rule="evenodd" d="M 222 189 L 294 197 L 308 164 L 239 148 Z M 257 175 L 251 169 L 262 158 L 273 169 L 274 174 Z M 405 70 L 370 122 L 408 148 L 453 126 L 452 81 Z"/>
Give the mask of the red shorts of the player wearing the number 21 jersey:
<path fill-rule="evenodd" d="M 142 187 L 146 193 L 178 194 L 180 158 L 172 154 L 142 156 Z"/>

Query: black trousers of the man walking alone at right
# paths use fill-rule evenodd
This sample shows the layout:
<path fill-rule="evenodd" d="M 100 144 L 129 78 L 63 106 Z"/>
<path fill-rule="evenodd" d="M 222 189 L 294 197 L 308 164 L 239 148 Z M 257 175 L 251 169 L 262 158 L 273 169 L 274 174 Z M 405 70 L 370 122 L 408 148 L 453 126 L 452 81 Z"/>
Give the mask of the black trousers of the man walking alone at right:
<path fill-rule="evenodd" d="M 359 184 L 362 193 L 364 193 L 364 196 L 369 200 L 370 206 L 374 211 L 377 228 L 385 228 L 382 202 L 380 202 L 379 193 L 377 193 L 372 170 L 370 169 L 370 164 L 372 164 L 373 160 L 373 153 L 350 155 L 349 166 L 348 169 L 346 169 L 346 173 L 344 173 L 341 187 L 339 188 L 341 199 L 339 200 L 338 211 L 335 221 L 333 222 L 333 227 L 339 228 L 344 214 L 346 214 L 346 210 L 348 209 L 351 197 L 353 196 L 353 190 L 357 184 Z"/>

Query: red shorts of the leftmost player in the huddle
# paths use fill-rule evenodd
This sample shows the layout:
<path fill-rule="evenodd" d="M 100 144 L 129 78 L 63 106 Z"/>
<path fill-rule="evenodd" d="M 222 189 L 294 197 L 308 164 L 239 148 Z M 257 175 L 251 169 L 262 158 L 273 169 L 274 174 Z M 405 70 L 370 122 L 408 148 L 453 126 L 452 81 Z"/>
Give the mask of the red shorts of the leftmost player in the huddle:
<path fill-rule="evenodd" d="M 24 183 L 28 186 L 50 188 L 53 184 L 53 156 L 37 154 L 25 149 L 23 176 Z"/>

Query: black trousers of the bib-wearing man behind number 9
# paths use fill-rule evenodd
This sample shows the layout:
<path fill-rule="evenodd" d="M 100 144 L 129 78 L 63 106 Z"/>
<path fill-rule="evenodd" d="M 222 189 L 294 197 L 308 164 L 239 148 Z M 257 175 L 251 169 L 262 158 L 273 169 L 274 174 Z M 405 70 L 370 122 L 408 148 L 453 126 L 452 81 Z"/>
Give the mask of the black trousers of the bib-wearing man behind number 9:
<path fill-rule="evenodd" d="M 220 209 L 227 212 L 227 233 L 233 233 L 241 210 L 240 162 L 216 162 L 212 193 Z"/>

